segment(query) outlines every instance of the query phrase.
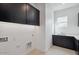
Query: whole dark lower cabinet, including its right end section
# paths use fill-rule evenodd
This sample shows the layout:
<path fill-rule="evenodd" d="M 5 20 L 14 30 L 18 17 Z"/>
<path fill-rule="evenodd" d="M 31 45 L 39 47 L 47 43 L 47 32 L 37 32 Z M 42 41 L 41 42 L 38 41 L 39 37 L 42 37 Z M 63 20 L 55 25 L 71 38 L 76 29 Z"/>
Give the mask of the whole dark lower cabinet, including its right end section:
<path fill-rule="evenodd" d="M 52 44 L 68 49 L 75 50 L 79 55 L 79 40 L 71 36 L 53 35 Z"/>

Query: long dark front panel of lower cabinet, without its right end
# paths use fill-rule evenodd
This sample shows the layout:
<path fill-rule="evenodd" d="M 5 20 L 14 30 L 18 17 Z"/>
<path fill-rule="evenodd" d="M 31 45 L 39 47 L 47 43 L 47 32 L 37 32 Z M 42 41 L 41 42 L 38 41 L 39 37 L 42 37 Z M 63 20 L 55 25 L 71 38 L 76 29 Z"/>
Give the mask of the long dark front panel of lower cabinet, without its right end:
<path fill-rule="evenodd" d="M 70 36 L 53 35 L 53 44 L 75 50 L 75 38 Z"/>

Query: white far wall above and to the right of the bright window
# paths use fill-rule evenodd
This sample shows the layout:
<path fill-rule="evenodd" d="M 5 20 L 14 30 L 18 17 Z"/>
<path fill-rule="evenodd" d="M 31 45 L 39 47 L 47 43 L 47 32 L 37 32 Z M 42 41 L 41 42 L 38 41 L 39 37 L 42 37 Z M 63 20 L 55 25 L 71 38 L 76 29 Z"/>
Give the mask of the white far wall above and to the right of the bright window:
<path fill-rule="evenodd" d="M 65 35 L 79 35 L 78 13 L 79 5 L 55 11 L 55 20 L 57 17 L 68 16 L 68 25 L 62 29 Z"/>

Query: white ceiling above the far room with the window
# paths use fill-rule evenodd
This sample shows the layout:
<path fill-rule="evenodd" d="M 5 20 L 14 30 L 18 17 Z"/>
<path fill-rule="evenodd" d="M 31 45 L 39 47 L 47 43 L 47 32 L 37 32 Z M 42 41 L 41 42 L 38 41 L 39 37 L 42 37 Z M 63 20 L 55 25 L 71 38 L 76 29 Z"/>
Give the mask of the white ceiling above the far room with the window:
<path fill-rule="evenodd" d="M 54 11 L 70 8 L 79 5 L 79 3 L 50 3 Z"/>

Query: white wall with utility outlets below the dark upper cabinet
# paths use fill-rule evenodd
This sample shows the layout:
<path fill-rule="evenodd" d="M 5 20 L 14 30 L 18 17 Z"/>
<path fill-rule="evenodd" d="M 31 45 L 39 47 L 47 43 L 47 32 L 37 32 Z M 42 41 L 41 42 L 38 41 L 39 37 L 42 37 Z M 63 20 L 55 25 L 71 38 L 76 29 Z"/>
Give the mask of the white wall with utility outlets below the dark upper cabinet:
<path fill-rule="evenodd" d="M 0 37 L 8 37 L 7 42 L 0 42 L 0 54 L 27 54 L 33 33 L 34 26 L 0 22 Z"/>

